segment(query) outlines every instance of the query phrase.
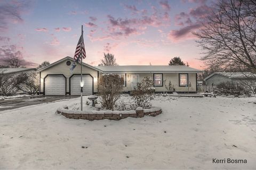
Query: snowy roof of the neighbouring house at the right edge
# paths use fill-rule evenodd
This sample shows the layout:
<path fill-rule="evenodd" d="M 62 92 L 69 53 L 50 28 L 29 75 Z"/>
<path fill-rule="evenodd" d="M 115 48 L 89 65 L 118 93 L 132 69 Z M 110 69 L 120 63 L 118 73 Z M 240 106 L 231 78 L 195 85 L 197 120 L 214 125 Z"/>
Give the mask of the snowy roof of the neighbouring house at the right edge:
<path fill-rule="evenodd" d="M 229 79 L 241 79 L 241 78 L 246 78 L 246 77 L 253 77 L 256 79 L 256 74 L 250 73 L 250 72 L 214 72 L 211 75 L 209 75 L 208 77 L 206 77 L 204 79 L 204 81 L 206 81 L 207 79 L 213 77 L 213 75 L 218 74 L 218 75 L 223 75 Z"/>

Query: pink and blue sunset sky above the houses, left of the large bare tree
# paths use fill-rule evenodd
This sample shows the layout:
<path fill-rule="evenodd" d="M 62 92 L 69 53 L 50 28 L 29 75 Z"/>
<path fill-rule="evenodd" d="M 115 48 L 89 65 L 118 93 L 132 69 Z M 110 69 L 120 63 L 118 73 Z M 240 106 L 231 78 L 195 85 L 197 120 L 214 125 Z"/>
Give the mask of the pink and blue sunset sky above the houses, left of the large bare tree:
<path fill-rule="evenodd" d="M 103 53 L 119 65 L 167 65 L 180 56 L 202 69 L 195 36 L 211 3 L 180 1 L 0 1 L 0 64 L 12 51 L 28 67 L 74 56 L 84 27 L 85 63 Z M 35 63 L 35 64 L 34 64 Z"/>

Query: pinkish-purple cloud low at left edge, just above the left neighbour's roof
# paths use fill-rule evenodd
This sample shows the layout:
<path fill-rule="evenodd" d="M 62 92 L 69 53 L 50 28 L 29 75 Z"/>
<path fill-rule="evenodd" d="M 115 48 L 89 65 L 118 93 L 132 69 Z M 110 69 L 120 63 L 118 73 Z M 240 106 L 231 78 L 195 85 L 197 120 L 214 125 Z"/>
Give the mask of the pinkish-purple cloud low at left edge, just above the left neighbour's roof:
<path fill-rule="evenodd" d="M 8 60 L 9 57 L 18 57 L 22 62 L 22 66 L 37 66 L 38 64 L 34 62 L 30 62 L 24 59 L 23 53 L 22 53 L 23 47 L 18 47 L 17 45 L 5 45 L 0 47 L 0 65 L 7 65 L 6 60 Z"/>

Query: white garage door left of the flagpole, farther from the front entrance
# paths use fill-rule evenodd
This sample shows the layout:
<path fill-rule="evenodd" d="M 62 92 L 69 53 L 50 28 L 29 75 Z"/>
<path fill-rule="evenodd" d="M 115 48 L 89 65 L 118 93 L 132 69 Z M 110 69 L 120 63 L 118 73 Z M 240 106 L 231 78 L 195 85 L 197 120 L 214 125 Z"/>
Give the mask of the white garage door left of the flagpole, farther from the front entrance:
<path fill-rule="evenodd" d="M 65 81 L 62 75 L 49 75 L 45 79 L 45 95 L 66 95 Z"/>

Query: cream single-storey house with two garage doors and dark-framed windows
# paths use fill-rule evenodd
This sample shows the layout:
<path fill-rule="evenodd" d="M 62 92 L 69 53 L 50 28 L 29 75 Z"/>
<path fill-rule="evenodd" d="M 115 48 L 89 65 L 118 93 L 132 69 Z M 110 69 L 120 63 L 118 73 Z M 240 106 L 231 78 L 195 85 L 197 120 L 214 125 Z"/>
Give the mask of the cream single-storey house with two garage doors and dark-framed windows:
<path fill-rule="evenodd" d="M 39 91 L 44 95 L 80 95 L 81 64 L 78 64 L 73 73 L 70 65 L 74 62 L 71 57 L 47 65 L 36 73 L 39 74 Z M 177 92 L 197 92 L 197 73 L 200 70 L 188 66 L 169 65 L 125 65 L 125 66 L 91 66 L 83 63 L 83 94 L 92 95 L 98 92 L 98 79 L 104 73 L 119 74 L 124 79 L 124 92 L 133 90 L 137 82 L 144 77 L 154 80 L 156 92 L 167 91 L 166 84 L 171 81 Z"/>

